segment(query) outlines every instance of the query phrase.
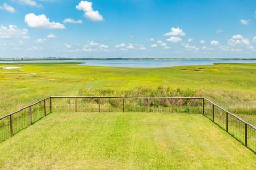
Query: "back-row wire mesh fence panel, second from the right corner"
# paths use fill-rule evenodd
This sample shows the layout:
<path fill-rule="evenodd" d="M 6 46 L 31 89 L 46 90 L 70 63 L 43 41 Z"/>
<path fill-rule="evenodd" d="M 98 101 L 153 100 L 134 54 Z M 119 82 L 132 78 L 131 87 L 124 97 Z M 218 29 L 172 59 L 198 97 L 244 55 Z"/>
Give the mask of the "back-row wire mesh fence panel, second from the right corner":
<path fill-rule="evenodd" d="M 149 112 L 172 112 L 172 98 L 149 98 Z"/>

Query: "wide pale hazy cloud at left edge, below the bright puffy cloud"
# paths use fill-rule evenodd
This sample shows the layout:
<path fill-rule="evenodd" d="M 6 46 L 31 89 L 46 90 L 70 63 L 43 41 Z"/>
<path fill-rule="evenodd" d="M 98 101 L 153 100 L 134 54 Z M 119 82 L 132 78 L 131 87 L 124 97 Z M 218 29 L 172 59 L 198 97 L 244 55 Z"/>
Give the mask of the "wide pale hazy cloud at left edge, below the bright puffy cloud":
<path fill-rule="evenodd" d="M 0 25 L 0 38 L 1 39 L 9 39 L 9 38 L 29 39 L 30 37 L 27 29 L 20 30 L 15 25 L 9 25 L 9 27 Z"/>

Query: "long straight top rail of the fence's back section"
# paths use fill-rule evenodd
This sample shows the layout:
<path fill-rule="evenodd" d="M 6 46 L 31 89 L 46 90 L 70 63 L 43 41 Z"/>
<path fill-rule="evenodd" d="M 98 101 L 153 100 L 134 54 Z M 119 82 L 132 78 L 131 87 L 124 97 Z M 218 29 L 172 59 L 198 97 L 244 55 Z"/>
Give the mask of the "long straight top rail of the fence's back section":
<path fill-rule="evenodd" d="M 122 96 L 51 96 L 51 98 L 204 99 L 203 97 L 164 97 L 164 96 L 163 97 L 144 97 L 144 96 L 141 96 L 141 97 L 134 97 L 134 96 L 131 96 L 131 97 L 128 97 L 128 96 L 126 96 L 126 97 L 122 97 Z"/>

